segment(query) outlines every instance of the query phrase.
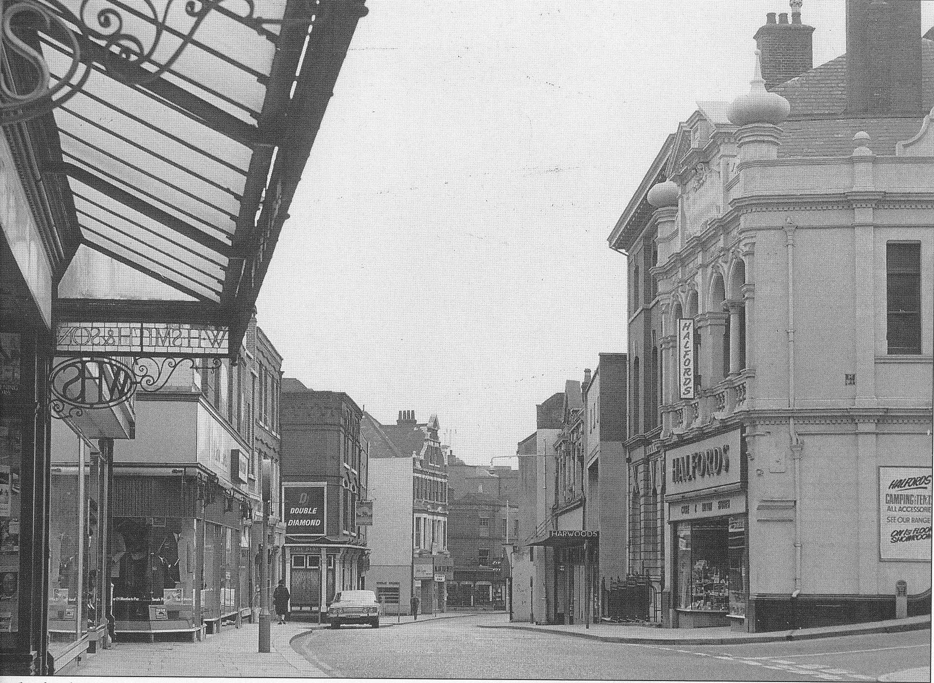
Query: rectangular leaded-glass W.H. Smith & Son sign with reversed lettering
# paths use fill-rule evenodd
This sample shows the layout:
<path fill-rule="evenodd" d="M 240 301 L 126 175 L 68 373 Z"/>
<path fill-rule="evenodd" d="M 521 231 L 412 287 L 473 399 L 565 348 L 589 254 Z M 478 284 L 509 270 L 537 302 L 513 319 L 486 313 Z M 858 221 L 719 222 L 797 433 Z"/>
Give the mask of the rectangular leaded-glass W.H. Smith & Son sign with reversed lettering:
<path fill-rule="evenodd" d="M 57 355 L 228 355 L 228 328 L 188 323 L 59 323 Z"/>

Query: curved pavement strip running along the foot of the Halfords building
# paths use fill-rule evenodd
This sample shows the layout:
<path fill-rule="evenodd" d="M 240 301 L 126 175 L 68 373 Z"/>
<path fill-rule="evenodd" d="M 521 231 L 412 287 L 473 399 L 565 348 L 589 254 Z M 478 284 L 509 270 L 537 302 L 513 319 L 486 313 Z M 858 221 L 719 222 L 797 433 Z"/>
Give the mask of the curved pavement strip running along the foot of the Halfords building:
<path fill-rule="evenodd" d="M 931 627 L 929 614 L 907 619 L 868 621 L 842 626 L 821 626 L 791 631 L 771 631 L 747 634 L 730 630 L 729 626 L 702 629 L 659 629 L 639 624 L 596 623 L 587 628 L 583 624 L 545 625 L 525 622 L 503 624 L 478 624 L 484 629 L 516 629 L 537 631 L 555 635 L 573 635 L 604 643 L 635 643 L 643 645 L 741 645 L 744 643 L 774 643 L 783 640 L 811 640 L 841 635 L 895 634 L 903 631 L 920 631 Z M 929 677 L 927 678 L 929 680 Z"/>

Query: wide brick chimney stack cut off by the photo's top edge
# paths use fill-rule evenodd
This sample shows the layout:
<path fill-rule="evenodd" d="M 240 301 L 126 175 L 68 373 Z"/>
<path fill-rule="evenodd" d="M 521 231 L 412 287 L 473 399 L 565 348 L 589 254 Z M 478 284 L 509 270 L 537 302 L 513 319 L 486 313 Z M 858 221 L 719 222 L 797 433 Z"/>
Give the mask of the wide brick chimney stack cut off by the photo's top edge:
<path fill-rule="evenodd" d="M 921 117 L 920 0 L 846 0 L 846 108 Z"/>

